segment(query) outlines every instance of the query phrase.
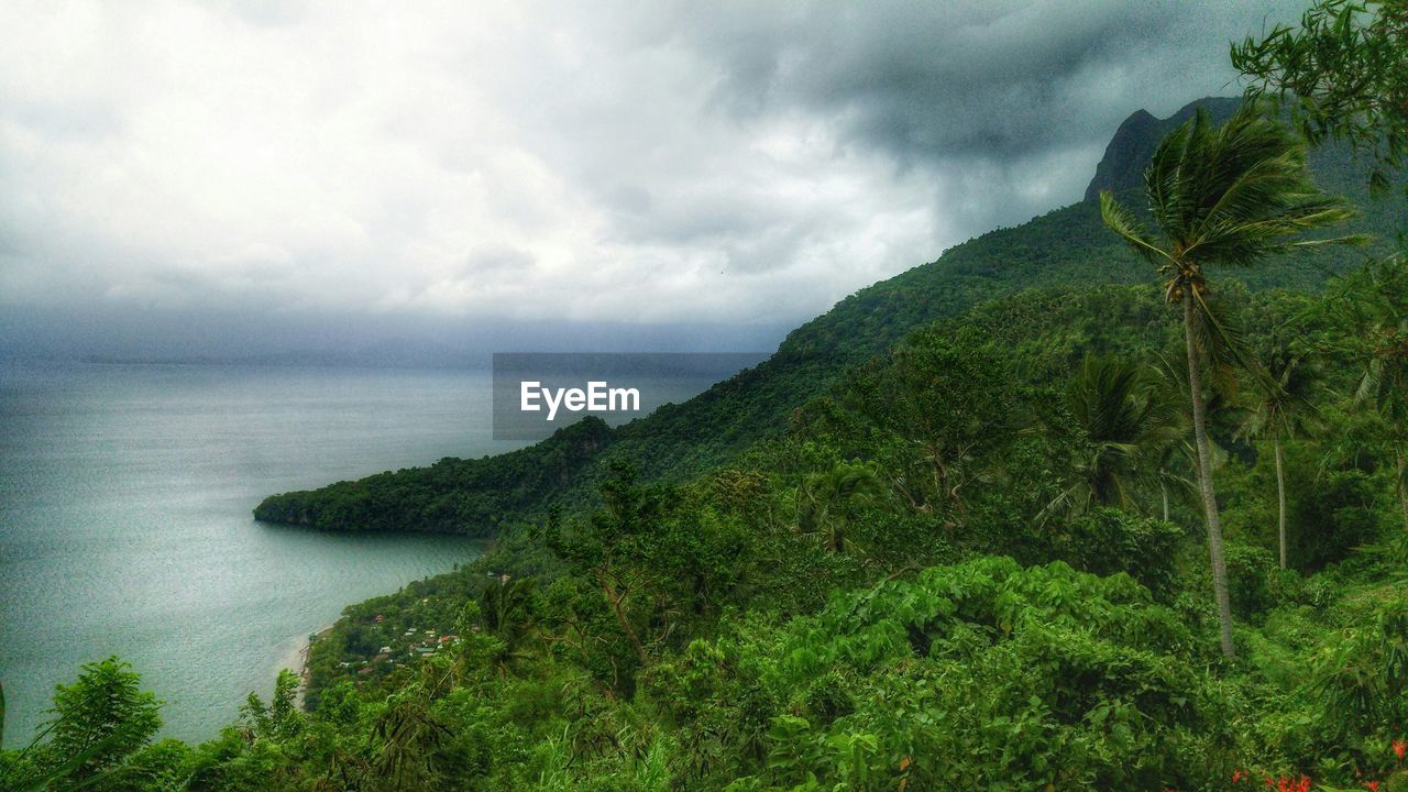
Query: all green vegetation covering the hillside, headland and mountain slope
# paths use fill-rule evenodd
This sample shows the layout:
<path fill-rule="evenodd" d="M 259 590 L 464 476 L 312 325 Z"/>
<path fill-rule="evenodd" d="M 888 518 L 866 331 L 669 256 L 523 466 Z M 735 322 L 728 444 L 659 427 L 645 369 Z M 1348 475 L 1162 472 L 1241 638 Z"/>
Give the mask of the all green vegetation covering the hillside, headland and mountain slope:
<path fill-rule="evenodd" d="M 199 745 L 90 664 L 0 785 L 1408 789 L 1408 259 L 1298 249 L 1401 204 L 1345 223 L 1259 107 L 1156 131 L 1112 145 L 1152 152 L 1142 194 L 960 245 L 694 402 L 268 500 L 498 541 L 349 606 L 306 707 L 284 674 Z"/>

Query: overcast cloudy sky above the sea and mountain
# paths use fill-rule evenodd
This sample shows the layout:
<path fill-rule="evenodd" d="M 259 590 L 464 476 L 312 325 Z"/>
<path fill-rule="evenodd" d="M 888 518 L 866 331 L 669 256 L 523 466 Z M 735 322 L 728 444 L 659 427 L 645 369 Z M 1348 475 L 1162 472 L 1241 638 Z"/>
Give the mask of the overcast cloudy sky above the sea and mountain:
<path fill-rule="evenodd" d="M 0 333 L 774 344 L 1301 6 L 8 0 Z"/>

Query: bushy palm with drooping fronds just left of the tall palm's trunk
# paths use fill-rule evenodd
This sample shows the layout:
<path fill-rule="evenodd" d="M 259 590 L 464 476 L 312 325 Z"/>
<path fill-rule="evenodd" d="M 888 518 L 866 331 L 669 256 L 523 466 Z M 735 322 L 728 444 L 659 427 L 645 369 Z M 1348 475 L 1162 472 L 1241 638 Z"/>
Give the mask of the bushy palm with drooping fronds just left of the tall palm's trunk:
<path fill-rule="evenodd" d="M 1076 510 L 1098 503 L 1142 513 L 1142 496 L 1157 485 L 1169 519 L 1162 462 L 1181 440 L 1183 421 L 1160 385 L 1142 364 L 1086 355 L 1066 388 L 1066 406 L 1086 430 L 1090 451 L 1059 502 Z"/>

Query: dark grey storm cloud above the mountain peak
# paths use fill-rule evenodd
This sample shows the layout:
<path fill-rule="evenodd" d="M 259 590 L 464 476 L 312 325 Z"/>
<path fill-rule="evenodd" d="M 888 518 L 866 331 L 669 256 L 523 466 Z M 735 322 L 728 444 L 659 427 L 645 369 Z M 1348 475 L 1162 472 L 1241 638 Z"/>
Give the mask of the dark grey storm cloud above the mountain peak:
<path fill-rule="evenodd" d="M 901 159 L 1028 156 L 1110 134 L 1135 109 L 1236 92 L 1229 39 L 1301 3 L 1074 0 L 732 7 L 672 21 L 712 54 L 735 111 L 801 106 Z"/>

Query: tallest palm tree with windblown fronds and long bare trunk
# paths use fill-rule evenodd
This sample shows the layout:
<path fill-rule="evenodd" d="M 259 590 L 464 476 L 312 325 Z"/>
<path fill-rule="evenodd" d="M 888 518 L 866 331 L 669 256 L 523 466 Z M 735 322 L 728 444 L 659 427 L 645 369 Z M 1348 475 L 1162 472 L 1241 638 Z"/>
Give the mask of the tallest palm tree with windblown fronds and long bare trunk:
<path fill-rule="evenodd" d="M 1217 372 L 1245 361 L 1212 307 L 1204 268 L 1250 266 L 1270 254 L 1349 241 L 1295 237 L 1308 228 L 1342 223 L 1350 211 L 1311 182 L 1305 142 L 1250 104 L 1221 127 L 1214 127 L 1207 111 L 1200 110 L 1170 132 L 1145 171 L 1145 192 L 1163 240 L 1150 235 L 1108 190 L 1100 194 L 1100 213 L 1135 252 L 1159 268 L 1166 278 L 1169 304 L 1183 307 L 1198 488 L 1208 523 L 1219 638 L 1222 652 L 1235 657 L 1202 376 L 1208 366 Z"/>

